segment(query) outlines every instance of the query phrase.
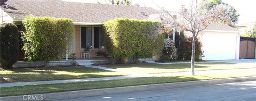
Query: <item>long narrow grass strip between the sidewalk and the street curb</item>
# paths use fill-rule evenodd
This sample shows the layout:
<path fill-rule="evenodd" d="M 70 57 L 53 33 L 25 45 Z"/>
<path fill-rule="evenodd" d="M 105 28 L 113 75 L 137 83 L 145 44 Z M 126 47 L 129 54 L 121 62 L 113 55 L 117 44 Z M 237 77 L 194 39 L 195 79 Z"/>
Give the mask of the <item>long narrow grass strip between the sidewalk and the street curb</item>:
<path fill-rule="evenodd" d="M 247 77 L 247 76 L 256 76 L 255 71 L 239 70 L 234 72 L 230 72 L 230 71 L 219 71 L 219 72 L 212 72 L 212 73 L 196 72 L 196 76 L 177 75 L 177 76 L 167 76 L 167 77 L 143 77 L 143 78 L 122 79 L 122 80 L 73 82 L 73 83 L 66 83 L 66 84 L 1 87 L 0 96 L 55 93 L 55 92 L 61 92 L 61 91 L 99 89 L 99 88 L 135 86 L 135 85 L 146 85 L 146 84 L 161 84 L 161 83 L 167 83 L 167 82 L 182 82 L 182 81 L 235 78 L 235 77 Z"/>

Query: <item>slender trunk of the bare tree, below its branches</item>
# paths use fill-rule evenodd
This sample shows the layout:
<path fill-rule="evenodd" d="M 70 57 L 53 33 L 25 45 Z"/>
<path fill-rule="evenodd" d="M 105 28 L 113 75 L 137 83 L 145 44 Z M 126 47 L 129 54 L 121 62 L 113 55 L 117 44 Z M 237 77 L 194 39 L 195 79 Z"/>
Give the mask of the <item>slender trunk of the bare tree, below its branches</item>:
<path fill-rule="evenodd" d="M 192 43 L 192 54 L 191 54 L 191 74 L 195 75 L 195 52 L 196 52 L 196 36 L 193 35 L 193 43 Z"/>

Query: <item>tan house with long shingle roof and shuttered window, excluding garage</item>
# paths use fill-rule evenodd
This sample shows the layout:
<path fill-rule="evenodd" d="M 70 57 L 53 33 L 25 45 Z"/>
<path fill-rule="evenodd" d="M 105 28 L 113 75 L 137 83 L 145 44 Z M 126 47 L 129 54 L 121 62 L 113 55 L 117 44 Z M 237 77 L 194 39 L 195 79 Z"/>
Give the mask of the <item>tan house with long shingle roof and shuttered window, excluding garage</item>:
<path fill-rule="evenodd" d="M 76 53 L 76 58 L 81 58 L 81 53 L 86 47 L 90 49 L 90 57 L 98 57 L 95 52 L 105 51 L 102 25 L 104 22 L 116 18 L 127 17 L 130 19 L 147 20 L 157 11 L 153 8 L 104 5 L 90 3 L 64 2 L 59 0 L 9 0 L 2 5 L 3 21 L 21 24 L 27 15 L 38 17 L 66 17 L 74 21 L 74 39 L 70 43 L 69 54 Z M 2 11 L 2 10 L 1 10 Z M 142 13 L 143 12 L 143 13 Z"/>

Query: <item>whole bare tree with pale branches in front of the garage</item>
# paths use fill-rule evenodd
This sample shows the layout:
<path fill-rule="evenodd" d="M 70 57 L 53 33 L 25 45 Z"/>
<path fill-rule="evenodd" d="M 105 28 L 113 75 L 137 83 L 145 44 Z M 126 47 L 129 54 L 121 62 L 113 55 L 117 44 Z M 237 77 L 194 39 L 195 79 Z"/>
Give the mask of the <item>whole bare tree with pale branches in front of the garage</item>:
<path fill-rule="evenodd" d="M 205 10 L 202 7 L 207 4 L 193 5 L 191 1 L 188 9 L 182 8 L 179 12 L 170 12 L 162 8 L 163 13 L 161 19 L 166 27 L 175 28 L 177 30 L 189 31 L 193 34 L 193 46 L 191 55 L 191 74 L 195 75 L 195 49 L 196 37 L 199 32 L 205 30 L 207 26 L 212 23 L 219 23 L 221 21 L 229 21 L 230 6 L 218 5 L 212 7 L 210 10 Z"/>

